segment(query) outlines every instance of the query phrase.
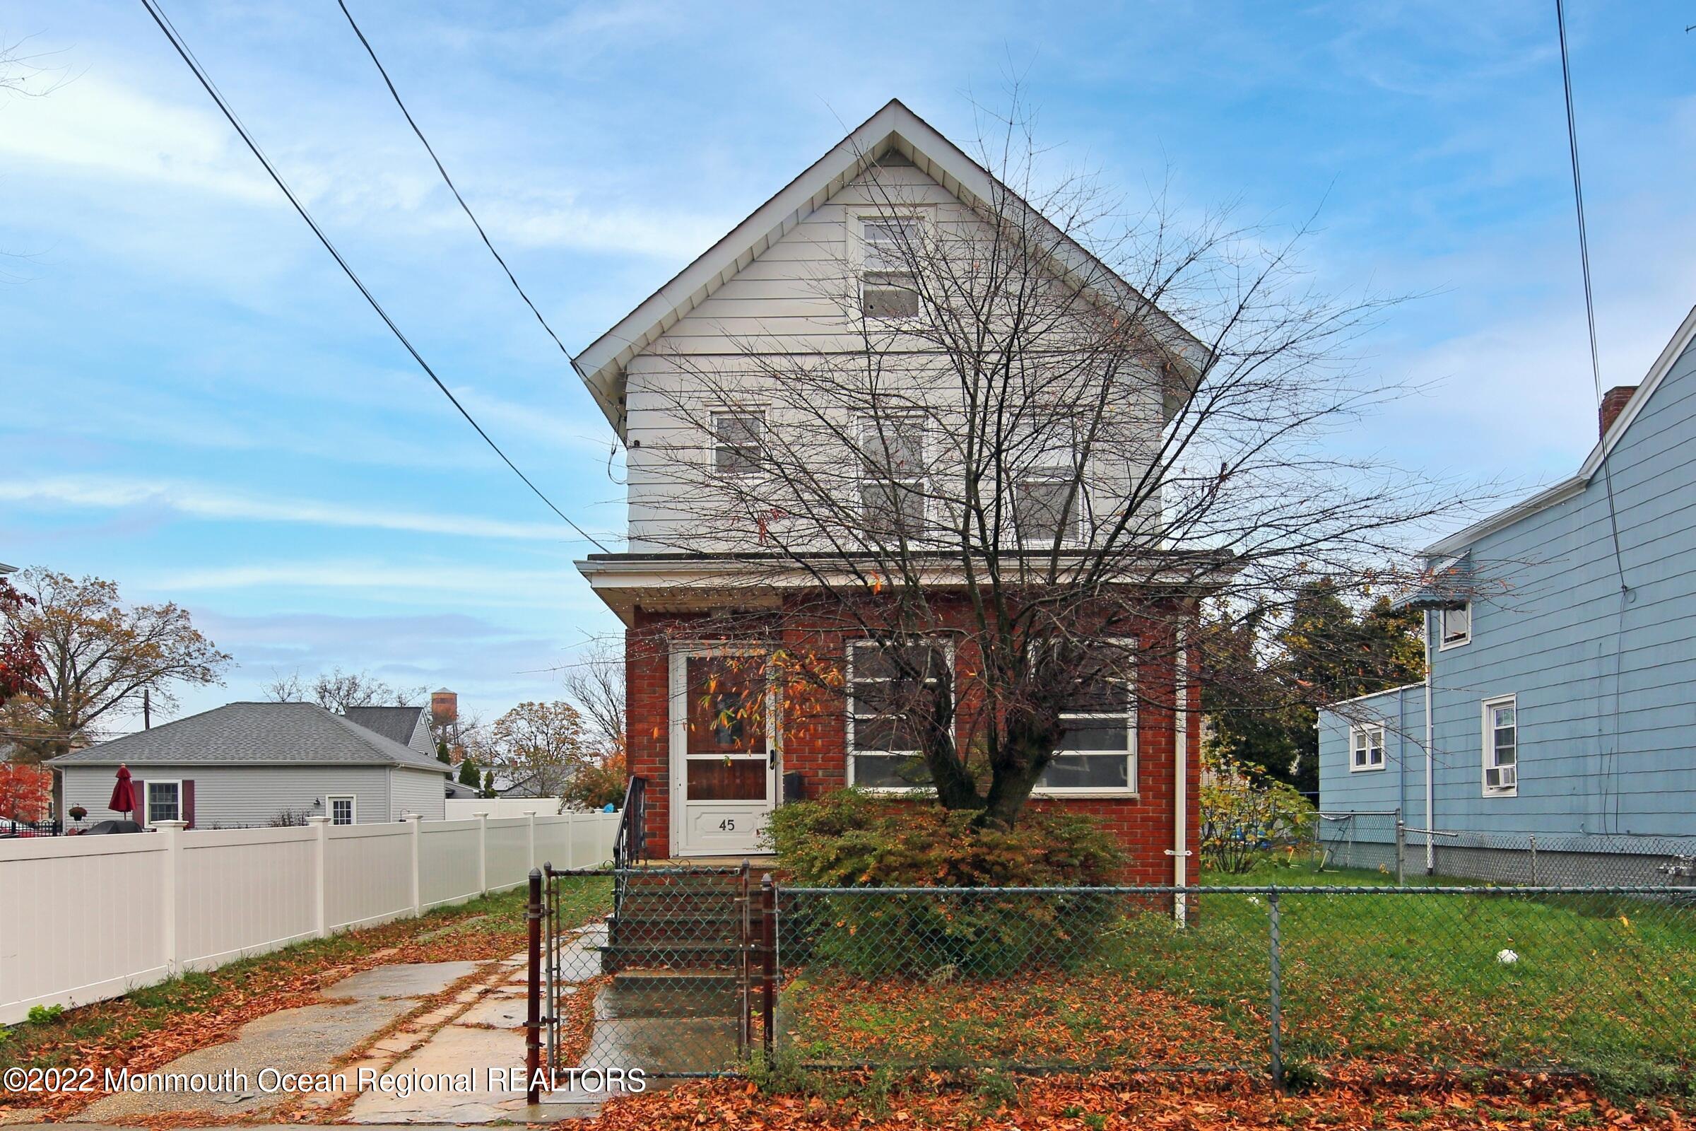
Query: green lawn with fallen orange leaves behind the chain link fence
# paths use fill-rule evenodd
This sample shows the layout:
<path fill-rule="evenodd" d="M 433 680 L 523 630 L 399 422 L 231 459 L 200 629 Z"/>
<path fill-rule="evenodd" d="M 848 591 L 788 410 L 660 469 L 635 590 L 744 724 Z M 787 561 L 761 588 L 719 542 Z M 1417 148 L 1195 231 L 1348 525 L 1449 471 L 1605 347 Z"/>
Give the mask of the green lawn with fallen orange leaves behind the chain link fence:
<path fill-rule="evenodd" d="M 1386 882 L 1270 863 L 1248 877 L 1206 877 L 1208 885 Z M 906 1043 L 943 1063 L 1035 1053 L 1065 1065 L 1079 1063 L 1079 1050 L 1111 1050 L 1126 1067 L 1174 1058 L 1264 1067 L 1269 912 L 1265 895 L 1201 894 L 1184 928 L 1146 907 L 1104 929 L 1084 965 L 997 980 L 895 978 L 873 989 L 816 965 L 787 1002 L 789 1028 L 819 1060 L 875 1060 Z M 1280 894 L 1279 912 L 1291 1063 L 1572 1068 L 1620 1094 L 1696 1094 L 1693 904 L 1484 890 Z M 1515 960 L 1501 961 L 1501 951 Z M 1106 992 L 1114 985 L 1145 999 Z M 1138 1024 L 1138 1011 L 1158 1024 Z M 1033 1024 L 1062 1036 L 1021 1043 L 1021 1026 Z M 1169 1039 L 1172 1024 L 1209 1033 L 1209 1048 Z"/>

